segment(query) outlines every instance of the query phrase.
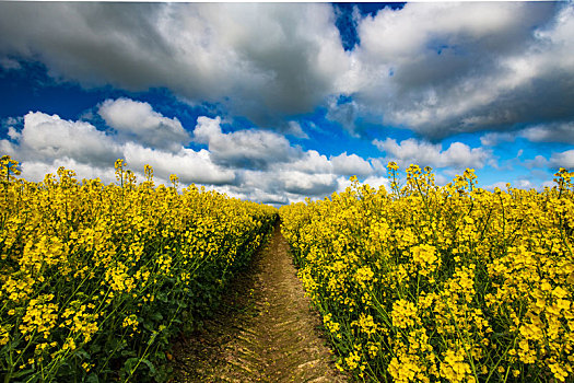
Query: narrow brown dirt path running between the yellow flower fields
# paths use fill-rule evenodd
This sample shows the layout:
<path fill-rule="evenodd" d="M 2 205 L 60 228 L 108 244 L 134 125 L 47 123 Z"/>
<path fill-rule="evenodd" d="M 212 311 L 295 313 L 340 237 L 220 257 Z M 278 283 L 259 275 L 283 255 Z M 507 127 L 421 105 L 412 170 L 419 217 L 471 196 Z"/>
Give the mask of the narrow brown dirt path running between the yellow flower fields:
<path fill-rule="evenodd" d="M 215 318 L 174 348 L 173 382 L 347 382 L 279 225 L 232 285 Z"/>

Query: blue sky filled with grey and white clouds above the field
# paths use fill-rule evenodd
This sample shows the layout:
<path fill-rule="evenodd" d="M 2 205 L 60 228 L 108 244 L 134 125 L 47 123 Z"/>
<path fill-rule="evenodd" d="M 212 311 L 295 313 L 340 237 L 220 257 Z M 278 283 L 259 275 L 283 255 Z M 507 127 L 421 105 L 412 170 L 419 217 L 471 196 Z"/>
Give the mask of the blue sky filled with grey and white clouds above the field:
<path fill-rule="evenodd" d="M 574 169 L 573 53 L 573 2 L 2 1 L 0 151 L 270 204 L 388 161 L 542 188 Z"/>

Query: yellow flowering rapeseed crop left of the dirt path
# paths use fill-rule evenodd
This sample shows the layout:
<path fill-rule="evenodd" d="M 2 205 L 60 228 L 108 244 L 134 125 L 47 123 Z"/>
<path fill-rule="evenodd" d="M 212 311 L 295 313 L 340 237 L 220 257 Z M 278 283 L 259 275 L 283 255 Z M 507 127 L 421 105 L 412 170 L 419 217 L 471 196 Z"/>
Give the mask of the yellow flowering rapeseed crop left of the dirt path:
<path fill-rule="evenodd" d="M 195 186 L 117 185 L 59 169 L 44 182 L 0 171 L 3 382 L 162 381 L 168 341 L 200 325 L 277 209 Z"/>

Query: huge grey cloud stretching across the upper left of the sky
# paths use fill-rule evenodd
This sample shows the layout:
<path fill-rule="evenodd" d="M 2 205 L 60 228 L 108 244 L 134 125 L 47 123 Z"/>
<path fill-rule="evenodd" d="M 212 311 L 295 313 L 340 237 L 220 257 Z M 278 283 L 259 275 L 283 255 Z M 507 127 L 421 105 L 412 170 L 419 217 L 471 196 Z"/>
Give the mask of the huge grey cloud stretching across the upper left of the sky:
<path fill-rule="evenodd" d="M 54 76 L 166 86 L 259 126 L 312 112 L 350 65 L 329 4 L 2 3 L 0 36 Z"/>

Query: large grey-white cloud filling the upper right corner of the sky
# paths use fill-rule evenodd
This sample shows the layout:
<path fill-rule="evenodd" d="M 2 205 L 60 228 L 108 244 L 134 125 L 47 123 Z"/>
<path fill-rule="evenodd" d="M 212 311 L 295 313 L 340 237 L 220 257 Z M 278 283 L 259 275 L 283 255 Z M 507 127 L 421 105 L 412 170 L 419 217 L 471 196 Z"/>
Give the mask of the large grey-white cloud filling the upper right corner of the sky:
<path fill-rule="evenodd" d="M 429 138 L 572 117 L 572 10 L 519 2 L 382 10 L 359 24 L 348 92 L 385 124 Z"/>

